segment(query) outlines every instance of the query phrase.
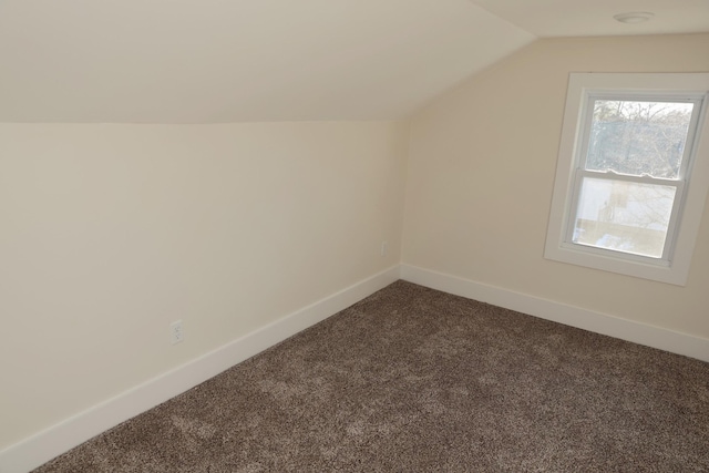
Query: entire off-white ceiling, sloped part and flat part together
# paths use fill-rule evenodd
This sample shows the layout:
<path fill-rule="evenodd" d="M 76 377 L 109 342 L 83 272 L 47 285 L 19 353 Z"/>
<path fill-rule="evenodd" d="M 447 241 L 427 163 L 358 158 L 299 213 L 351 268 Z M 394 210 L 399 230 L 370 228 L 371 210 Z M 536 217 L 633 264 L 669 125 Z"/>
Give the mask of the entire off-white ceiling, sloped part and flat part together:
<path fill-rule="evenodd" d="M 536 37 L 709 31 L 708 6 L 0 0 L 0 122 L 398 119 Z"/>

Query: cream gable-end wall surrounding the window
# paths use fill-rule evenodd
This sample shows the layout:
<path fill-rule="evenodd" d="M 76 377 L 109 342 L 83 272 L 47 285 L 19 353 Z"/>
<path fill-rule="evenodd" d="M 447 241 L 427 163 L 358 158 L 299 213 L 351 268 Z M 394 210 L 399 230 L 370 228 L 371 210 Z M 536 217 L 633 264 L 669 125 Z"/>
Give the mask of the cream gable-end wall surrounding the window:
<path fill-rule="evenodd" d="M 670 71 L 709 71 L 709 34 L 541 40 L 420 111 L 403 263 L 709 338 L 709 205 L 686 287 L 543 258 L 568 73 Z"/>

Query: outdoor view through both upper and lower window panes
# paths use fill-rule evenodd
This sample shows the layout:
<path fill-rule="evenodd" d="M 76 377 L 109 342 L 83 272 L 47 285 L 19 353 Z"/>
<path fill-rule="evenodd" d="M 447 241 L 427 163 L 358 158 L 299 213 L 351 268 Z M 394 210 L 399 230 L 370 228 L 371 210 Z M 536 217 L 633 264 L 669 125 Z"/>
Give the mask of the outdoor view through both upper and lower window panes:
<path fill-rule="evenodd" d="M 660 258 L 677 193 L 667 179 L 680 177 L 693 104 L 594 100 L 593 105 L 572 240 Z"/>

